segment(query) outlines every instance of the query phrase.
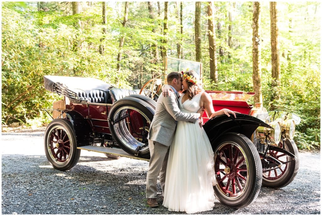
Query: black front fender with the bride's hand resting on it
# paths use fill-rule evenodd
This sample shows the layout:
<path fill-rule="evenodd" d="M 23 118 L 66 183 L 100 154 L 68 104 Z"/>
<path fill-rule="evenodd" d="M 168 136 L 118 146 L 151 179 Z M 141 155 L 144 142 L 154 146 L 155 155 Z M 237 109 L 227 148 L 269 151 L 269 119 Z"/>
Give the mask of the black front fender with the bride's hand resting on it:
<path fill-rule="evenodd" d="M 272 129 L 262 120 L 246 114 L 236 114 L 236 118 L 232 114 L 230 117 L 227 115 L 215 116 L 209 119 L 203 128 L 213 145 L 219 137 L 229 132 L 240 133 L 251 139 L 252 134 L 259 126 Z"/>

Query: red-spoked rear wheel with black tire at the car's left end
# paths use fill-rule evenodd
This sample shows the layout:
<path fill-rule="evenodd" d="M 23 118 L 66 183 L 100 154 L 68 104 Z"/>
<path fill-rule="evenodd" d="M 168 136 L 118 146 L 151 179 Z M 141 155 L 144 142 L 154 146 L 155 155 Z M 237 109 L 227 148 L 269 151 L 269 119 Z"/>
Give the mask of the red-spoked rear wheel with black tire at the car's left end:
<path fill-rule="evenodd" d="M 67 119 L 57 118 L 49 123 L 45 131 L 44 147 L 47 160 L 61 171 L 73 168 L 81 155 L 73 127 Z"/>

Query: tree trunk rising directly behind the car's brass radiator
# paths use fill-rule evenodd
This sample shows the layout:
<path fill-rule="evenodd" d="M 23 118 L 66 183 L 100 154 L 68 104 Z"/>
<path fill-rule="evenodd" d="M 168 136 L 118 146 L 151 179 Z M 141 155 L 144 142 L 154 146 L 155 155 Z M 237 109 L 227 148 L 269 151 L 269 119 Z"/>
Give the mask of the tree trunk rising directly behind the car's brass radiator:
<path fill-rule="evenodd" d="M 254 102 L 263 103 L 261 88 L 261 64 L 260 64 L 260 3 L 253 3 L 253 86 L 254 86 Z"/>

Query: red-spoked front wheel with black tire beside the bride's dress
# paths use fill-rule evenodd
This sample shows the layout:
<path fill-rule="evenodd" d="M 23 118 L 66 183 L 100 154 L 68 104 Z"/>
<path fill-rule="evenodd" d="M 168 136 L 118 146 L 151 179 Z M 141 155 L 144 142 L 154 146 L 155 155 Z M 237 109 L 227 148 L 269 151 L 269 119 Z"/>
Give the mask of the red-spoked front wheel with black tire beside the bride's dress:
<path fill-rule="evenodd" d="M 230 208 L 239 209 L 239 208 L 248 206 L 258 196 L 260 192 L 261 182 L 262 182 L 262 177 L 261 177 L 262 165 L 260 162 L 260 156 L 255 146 L 253 145 L 253 143 L 249 138 L 238 133 L 226 133 L 223 136 L 221 136 L 218 139 L 218 141 L 216 141 L 216 143 L 213 143 L 212 146 L 214 150 L 214 163 L 215 163 L 214 167 L 215 167 L 215 173 L 216 173 L 215 175 L 216 185 L 213 186 L 215 195 L 217 196 L 217 198 L 221 203 L 223 203 L 224 205 Z M 221 154 L 221 152 L 224 152 L 225 150 L 227 150 L 228 147 L 231 147 L 231 149 L 234 148 L 235 152 L 233 152 L 232 150 L 231 151 L 232 156 L 229 156 L 229 158 L 232 157 L 233 160 L 225 159 L 226 162 L 228 161 L 231 164 L 234 164 L 238 158 L 245 158 L 245 162 L 244 162 L 245 164 L 241 163 L 241 164 L 244 164 L 242 165 L 243 167 L 238 167 L 240 166 L 238 165 L 238 163 L 234 164 L 233 166 L 231 166 L 231 164 L 227 165 L 229 163 L 223 164 L 223 162 L 225 162 L 222 159 L 223 154 L 220 157 L 219 155 Z M 236 149 L 238 149 L 238 151 Z M 235 158 L 234 155 L 236 155 L 236 152 L 237 152 L 237 156 L 238 155 L 241 155 L 241 156 L 236 157 L 236 159 L 234 159 Z M 222 163 L 222 165 L 220 165 L 220 163 Z M 219 172 L 218 170 L 219 166 L 221 166 L 221 168 L 223 168 L 224 166 L 225 171 L 221 169 L 221 172 Z M 230 167 L 231 169 L 227 171 L 226 167 Z M 247 171 L 238 171 L 239 174 L 243 174 L 243 175 L 246 174 L 246 176 L 243 176 L 246 179 L 246 181 L 245 183 L 242 182 L 244 184 L 244 188 L 242 188 L 242 190 L 239 188 L 236 188 L 236 185 L 238 187 L 238 182 L 242 181 L 242 179 L 237 176 L 237 173 L 238 173 L 236 171 L 237 167 L 238 169 L 247 168 Z M 244 173 L 241 173 L 241 172 L 244 172 Z M 226 185 L 224 185 L 224 182 L 223 182 L 224 181 L 223 179 L 225 178 L 222 178 L 220 174 L 224 174 L 224 176 L 226 176 L 226 179 L 227 179 Z M 224 187 L 227 185 L 228 185 L 228 189 L 226 188 L 224 189 Z M 231 189 L 230 191 L 230 187 L 235 188 L 235 193 L 233 192 L 234 189 Z M 237 190 L 239 190 L 238 193 L 237 193 Z"/>

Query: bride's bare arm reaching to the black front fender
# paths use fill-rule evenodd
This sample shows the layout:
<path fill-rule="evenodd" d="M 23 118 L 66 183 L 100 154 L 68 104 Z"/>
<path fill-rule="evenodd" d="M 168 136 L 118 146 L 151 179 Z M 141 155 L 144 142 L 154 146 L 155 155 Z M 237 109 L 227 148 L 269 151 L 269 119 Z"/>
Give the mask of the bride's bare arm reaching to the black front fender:
<path fill-rule="evenodd" d="M 233 116 L 236 118 L 235 113 L 239 113 L 226 108 L 215 112 L 215 110 L 213 109 L 213 101 L 207 92 L 203 92 L 203 94 L 201 95 L 200 107 L 202 106 L 204 107 L 204 110 L 206 111 L 208 118 L 213 118 L 215 116 L 219 116 L 223 114 L 226 114 L 228 117 L 230 117 L 229 115 L 230 113 L 233 114 Z"/>

